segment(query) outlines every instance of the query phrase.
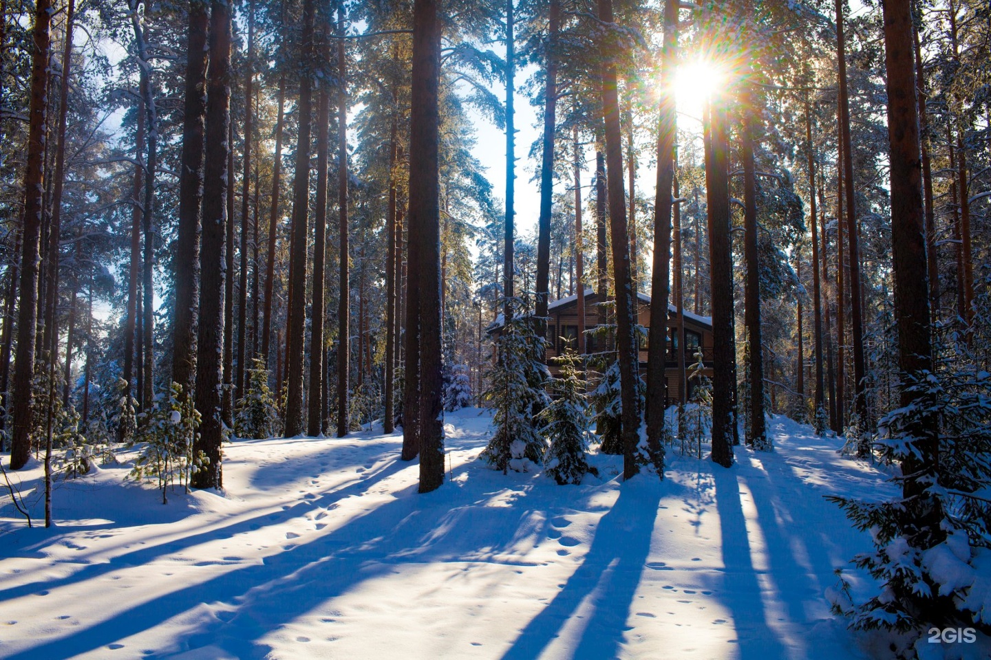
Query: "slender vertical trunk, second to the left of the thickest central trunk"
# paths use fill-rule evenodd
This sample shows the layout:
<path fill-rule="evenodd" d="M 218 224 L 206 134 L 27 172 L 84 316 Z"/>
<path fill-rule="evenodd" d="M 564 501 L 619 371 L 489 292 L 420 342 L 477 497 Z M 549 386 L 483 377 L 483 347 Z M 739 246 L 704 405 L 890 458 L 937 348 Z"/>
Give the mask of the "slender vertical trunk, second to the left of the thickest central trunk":
<path fill-rule="evenodd" d="M 349 430 L 351 388 L 351 284 L 348 281 L 350 250 L 348 247 L 348 62 L 344 49 L 344 3 L 337 6 L 337 204 L 340 209 L 340 259 L 338 263 L 337 303 L 337 436 Z"/>

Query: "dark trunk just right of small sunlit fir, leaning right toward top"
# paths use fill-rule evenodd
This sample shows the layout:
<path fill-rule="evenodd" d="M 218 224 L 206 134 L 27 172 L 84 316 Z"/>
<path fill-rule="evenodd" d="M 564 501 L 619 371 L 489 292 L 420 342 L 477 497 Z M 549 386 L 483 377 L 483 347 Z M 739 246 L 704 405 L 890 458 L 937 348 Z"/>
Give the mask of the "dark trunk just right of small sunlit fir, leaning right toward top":
<path fill-rule="evenodd" d="M 303 3 L 302 60 L 299 62 L 299 128 L 296 133 L 296 166 L 292 183 L 292 223 L 289 229 L 292 252 L 289 266 L 289 327 L 286 329 L 285 437 L 303 432 L 303 327 L 306 323 L 306 236 L 309 224 L 310 113 L 313 81 L 309 67 L 313 61 L 315 0 Z M 340 7 L 340 6 L 339 6 Z M 342 19 L 343 20 L 343 19 Z M 341 76 L 343 82 L 343 76 Z M 343 294 L 342 294 L 343 295 Z"/>

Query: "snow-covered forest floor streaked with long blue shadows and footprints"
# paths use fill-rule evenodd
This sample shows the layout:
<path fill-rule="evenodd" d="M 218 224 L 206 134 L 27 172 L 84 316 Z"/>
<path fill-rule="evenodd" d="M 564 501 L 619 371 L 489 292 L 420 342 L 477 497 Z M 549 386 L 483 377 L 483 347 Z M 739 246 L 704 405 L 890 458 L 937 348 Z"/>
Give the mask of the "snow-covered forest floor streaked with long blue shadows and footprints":
<path fill-rule="evenodd" d="M 356 433 L 236 441 L 222 495 L 165 506 L 104 467 L 57 485 L 48 530 L 6 498 L 0 657 L 869 657 L 824 594 L 870 539 L 823 496 L 892 486 L 841 440 L 775 418 L 729 470 L 669 451 L 622 484 L 597 455 L 557 486 L 476 460 L 487 414 L 447 422 L 428 495 L 398 433 Z M 11 478 L 40 516 L 41 469 Z"/>

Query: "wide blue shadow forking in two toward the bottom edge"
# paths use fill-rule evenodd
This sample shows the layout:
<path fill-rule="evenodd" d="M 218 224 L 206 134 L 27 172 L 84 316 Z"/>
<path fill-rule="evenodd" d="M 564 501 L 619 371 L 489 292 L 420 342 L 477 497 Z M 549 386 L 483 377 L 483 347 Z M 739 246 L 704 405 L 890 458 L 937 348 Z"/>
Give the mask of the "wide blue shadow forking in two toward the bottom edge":
<path fill-rule="evenodd" d="M 650 551 L 660 490 L 639 481 L 623 484 L 612 508 L 599 520 L 582 565 L 547 607 L 530 619 L 502 660 L 535 658 L 556 638 L 582 602 L 598 591 L 594 613 L 571 657 L 616 656 L 627 628 L 630 605 Z"/>

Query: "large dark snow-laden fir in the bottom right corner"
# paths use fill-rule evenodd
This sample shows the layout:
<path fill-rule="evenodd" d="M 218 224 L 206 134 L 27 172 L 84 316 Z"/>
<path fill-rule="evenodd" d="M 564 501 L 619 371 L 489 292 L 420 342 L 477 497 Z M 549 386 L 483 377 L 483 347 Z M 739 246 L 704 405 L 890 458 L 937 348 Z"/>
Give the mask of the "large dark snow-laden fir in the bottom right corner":
<path fill-rule="evenodd" d="M 855 628 L 922 635 L 930 625 L 973 626 L 986 633 L 991 631 L 991 374 L 944 359 L 936 373 L 903 378 L 919 398 L 881 420 L 877 445 L 903 466 L 903 475 L 894 480 L 916 492 L 878 503 L 830 498 L 854 526 L 870 530 L 874 551 L 853 563 L 880 583 L 880 593 L 864 603 L 840 590 L 833 611 L 848 616 Z M 918 472 L 916 429 L 925 421 L 937 426 L 938 458 Z"/>

